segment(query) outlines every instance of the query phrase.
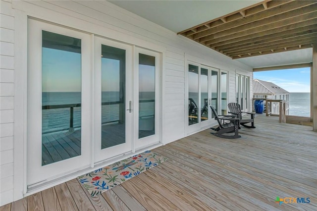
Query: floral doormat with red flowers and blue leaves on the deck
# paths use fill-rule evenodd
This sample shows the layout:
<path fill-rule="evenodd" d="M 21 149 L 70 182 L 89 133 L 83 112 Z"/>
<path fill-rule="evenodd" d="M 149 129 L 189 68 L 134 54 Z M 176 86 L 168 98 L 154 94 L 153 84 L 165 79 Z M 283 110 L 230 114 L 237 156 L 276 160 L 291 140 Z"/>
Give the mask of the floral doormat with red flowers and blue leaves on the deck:
<path fill-rule="evenodd" d="M 167 158 L 145 151 L 139 155 L 123 159 L 88 174 L 77 177 L 79 182 L 87 189 L 91 196 L 96 196 L 113 188 L 120 183 L 146 171 Z"/>

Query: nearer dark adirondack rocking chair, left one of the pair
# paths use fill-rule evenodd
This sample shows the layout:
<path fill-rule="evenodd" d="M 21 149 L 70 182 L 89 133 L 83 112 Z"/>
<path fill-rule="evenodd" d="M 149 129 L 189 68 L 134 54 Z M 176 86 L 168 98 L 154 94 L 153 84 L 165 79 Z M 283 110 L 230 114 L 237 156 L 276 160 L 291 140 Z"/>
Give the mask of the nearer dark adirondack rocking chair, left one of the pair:
<path fill-rule="evenodd" d="M 214 115 L 214 119 L 217 120 L 219 126 L 216 128 L 211 128 L 215 132 L 211 132 L 211 134 L 225 139 L 236 139 L 240 138 L 239 135 L 239 119 L 235 118 L 233 115 L 219 115 L 213 106 L 211 107 L 211 111 Z M 226 122 L 229 121 L 229 122 Z M 234 135 L 223 135 L 225 133 L 234 133 Z"/>

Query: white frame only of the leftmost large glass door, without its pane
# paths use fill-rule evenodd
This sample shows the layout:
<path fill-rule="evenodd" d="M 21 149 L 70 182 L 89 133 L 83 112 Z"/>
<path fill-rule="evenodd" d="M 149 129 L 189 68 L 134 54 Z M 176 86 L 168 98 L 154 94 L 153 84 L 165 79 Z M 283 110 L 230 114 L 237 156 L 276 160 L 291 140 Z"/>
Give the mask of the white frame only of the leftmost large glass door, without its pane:
<path fill-rule="evenodd" d="M 82 41 L 81 155 L 42 166 L 42 30 Z M 90 165 L 92 123 L 90 35 L 34 19 L 28 19 L 27 79 L 27 185 L 38 185 Z"/>

